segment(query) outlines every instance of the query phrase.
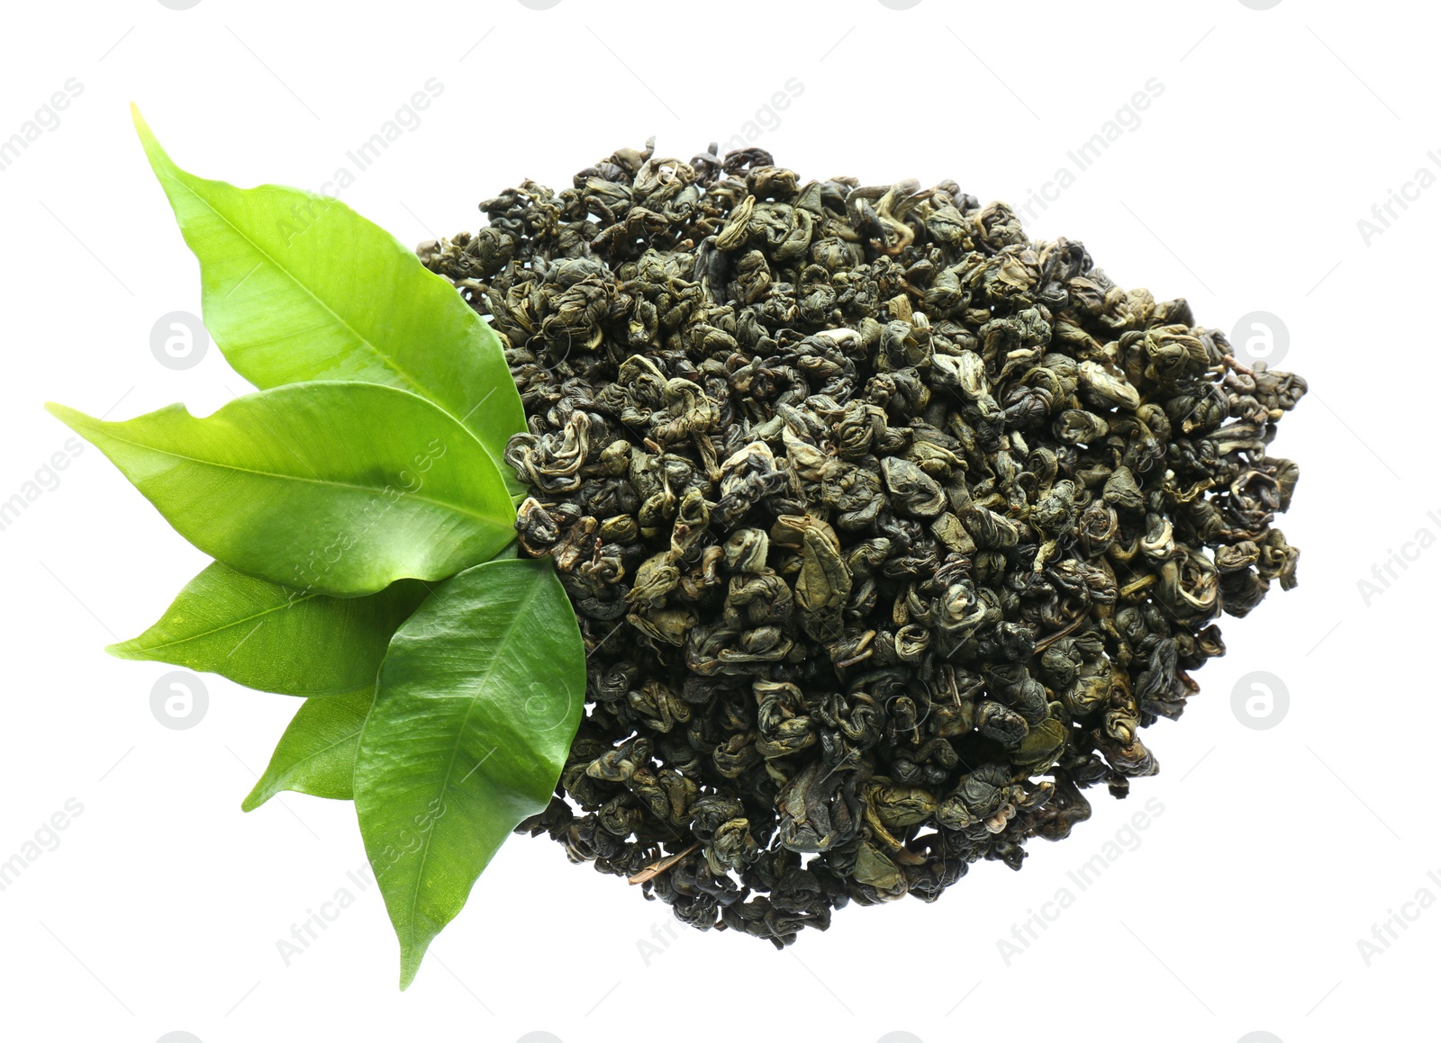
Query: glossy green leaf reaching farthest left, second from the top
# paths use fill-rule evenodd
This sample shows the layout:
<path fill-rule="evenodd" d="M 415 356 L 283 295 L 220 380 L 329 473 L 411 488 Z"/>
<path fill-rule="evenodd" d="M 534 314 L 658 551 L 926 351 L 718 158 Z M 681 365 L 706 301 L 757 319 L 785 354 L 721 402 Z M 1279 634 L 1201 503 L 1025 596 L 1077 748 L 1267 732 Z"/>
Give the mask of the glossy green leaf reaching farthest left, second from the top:
<path fill-rule="evenodd" d="M 46 408 L 200 550 L 304 592 L 442 579 L 514 537 L 510 497 L 480 442 L 398 388 L 287 385 L 206 418 L 180 405 L 120 422 Z"/>

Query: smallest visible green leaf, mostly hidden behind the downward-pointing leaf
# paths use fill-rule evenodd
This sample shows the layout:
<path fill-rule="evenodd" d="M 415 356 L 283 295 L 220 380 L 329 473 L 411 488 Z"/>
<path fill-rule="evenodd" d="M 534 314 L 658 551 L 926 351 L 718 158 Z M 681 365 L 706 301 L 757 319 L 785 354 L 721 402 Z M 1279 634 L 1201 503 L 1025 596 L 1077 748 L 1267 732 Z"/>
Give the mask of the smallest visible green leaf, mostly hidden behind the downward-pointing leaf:
<path fill-rule="evenodd" d="M 356 745 L 373 697 L 372 684 L 346 696 L 301 703 L 241 810 L 254 811 L 282 789 L 349 801 Z"/>

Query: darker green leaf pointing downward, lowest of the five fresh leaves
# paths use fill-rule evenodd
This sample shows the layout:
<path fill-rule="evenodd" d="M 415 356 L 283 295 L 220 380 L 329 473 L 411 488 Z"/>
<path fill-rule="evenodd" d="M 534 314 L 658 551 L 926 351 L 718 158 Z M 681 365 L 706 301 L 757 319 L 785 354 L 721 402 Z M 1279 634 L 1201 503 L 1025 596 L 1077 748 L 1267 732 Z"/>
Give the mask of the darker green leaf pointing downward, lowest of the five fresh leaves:
<path fill-rule="evenodd" d="M 396 631 L 354 801 L 402 988 L 510 830 L 549 802 L 584 702 L 585 645 L 549 562 L 467 569 Z"/>

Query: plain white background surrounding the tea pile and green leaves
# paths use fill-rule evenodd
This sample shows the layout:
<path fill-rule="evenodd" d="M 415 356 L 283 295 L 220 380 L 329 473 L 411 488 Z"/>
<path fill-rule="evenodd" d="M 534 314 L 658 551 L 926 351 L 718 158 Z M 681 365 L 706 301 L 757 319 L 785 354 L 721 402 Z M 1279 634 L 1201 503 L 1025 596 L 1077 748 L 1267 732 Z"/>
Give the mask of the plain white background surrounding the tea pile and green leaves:
<path fill-rule="evenodd" d="M 1027 228 L 1084 241 L 1123 285 L 1185 295 L 1226 331 L 1274 313 L 1282 369 L 1313 393 L 1274 445 L 1301 462 L 1281 520 L 1301 586 L 1223 621 L 1229 654 L 1199 673 L 1180 722 L 1146 733 L 1161 774 L 1124 804 L 1094 791 L 1094 818 L 1066 843 L 1033 841 L 1023 872 L 983 863 L 935 905 L 847 908 L 775 952 L 679 925 L 672 941 L 666 908 L 517 838 L 405 994 L 373 889 L 288 967 L 277 951 L 308 909 L 357 892 L 347 870 L 365 861 L 349 804 L 291 794 L 239 811 L 295 700 L 206 677 L 203 719 L 163 728 L 150 691 L 167 667 L 101 651 L 157 618 L 203 558 L 86 448 L 0 532 L 0 860 L 66 800 L 84 805 L 0 892 L 0 1036 L 1431 1036 L 1441 908 L 1404 903 L 1441 899 L 1441 550 L 1412 545 L 1389 589 L 1359 588 L 1418 530 L 1441 534 L 1441 190 L 1412 190 L 1369 242 L 1357 228 L 1418 169 L 1441 173 L 1424 17 L 1300 0 L 9 7 L 0 138 L 66 79 L 84 92 L 0 171 L 0 500 L 69 437 L 46 399 L 115 419 L 176 400 L 203 415 L 248 390 L 213 346 L 187 370 L 151 354 L 156 320 L 199 313 L 200 295 L 131 99 L 189 170 L 320 189 L 435 78 L 419 127 L 342 193 L 415 243 L 474 229 L 476 203 L 523 177 L 565 187 L 650 134 L 689 158 L 744 134 L 791 78 L 803 94 L 762 112 L 755 144 L 803 176 L 954 177 L 981 202 L 1023 205 L 1156 78 L 1140 125 Z M 1274 728 L 1232 709 L 1254 671 L 1290 693 Z M 1081 892 L 1068 872 L 1148 798 L 1163 813 L 1138 843 L 1123 833 L 1134 850 Z M 1004 957 L 999 941 L 1062 887 L 1075 902 Z M 1415 921 L 1365 957 L 1359 939 L 1393 912 Z M 657 925 L 669 948 L 647 962 Z"/>

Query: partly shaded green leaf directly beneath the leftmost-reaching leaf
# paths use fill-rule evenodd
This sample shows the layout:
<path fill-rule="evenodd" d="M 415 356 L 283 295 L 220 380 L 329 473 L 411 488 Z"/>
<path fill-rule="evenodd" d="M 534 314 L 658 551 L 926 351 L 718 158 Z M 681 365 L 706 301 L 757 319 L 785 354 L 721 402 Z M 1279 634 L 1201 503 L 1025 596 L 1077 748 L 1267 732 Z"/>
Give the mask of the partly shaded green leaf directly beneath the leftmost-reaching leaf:
<path fill-rule="evenodd" d="M 159 622 L 105 651 L 220 674 L 259 691 L 363 689 L 369 696 L 391 635 L 428 594 L 418 579 L 401 579 L 365 598 L 330 598 L 212 562 Z"/>

